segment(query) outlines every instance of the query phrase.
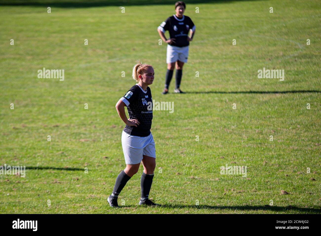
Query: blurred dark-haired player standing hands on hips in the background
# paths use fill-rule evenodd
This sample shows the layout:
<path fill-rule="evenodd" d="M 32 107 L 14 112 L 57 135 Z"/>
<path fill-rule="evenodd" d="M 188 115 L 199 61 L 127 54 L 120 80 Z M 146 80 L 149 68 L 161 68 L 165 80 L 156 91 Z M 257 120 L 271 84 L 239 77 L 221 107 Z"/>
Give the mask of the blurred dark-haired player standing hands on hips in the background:
<path fill-rule="evenodd" d="M 195 34 L 195 25 L 191 18 L 184 15 L 185 9 L 186 5 L 184 2 L 176 2 L 176 14 L 167 18 L 157 28 L 160 38 L 168 44 L 166 53 L 167 72 L 163 94 L 168 93 L 174 67 L 176 67 L 176 88 L 174 92 L 184 93 L 179 88 L 182 79 L 182 69 L 184 63 L 187 62 L 189 42 L 192 41 Z M 164 34 L 167 30 L 169 31 L 169 39 L 166 39 Z M 188 37 L 188 32 L 190 32 L 190 37 Z"/>

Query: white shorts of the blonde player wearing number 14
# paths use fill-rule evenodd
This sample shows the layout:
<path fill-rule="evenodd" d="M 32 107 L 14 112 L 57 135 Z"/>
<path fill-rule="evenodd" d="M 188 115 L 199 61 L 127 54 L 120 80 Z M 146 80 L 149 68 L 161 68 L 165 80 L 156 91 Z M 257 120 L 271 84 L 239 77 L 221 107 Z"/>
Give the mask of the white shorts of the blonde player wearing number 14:
<path fill-rule="evenodd" d="M 156 158 L 155 142 L 152 133 L 147 137 L 139 137 L 129 135 L 123 130 L 121 144 L 126 164 L 133 165 L 140 163 L 143 160 L 143 155 Z"/>

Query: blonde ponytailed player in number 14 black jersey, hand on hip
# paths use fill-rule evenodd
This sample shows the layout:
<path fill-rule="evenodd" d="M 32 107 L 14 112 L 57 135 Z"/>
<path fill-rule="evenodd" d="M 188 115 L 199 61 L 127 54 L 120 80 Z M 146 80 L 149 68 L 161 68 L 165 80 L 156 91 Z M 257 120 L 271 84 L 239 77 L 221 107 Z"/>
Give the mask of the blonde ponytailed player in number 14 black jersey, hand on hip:
<path fill-rule="evenodd" d="M 107 201 L 110 206 L 118 207 L 117 197 L 120 191 L 137 173 L 143 161 L 139 205 L 160 206 L 148 199 L 156 166 L 155 142 L 150 131 L 153 118 L 152 94 L 148 87 L 154 80 L 153 67 L 147 64 L 136 64 L 133 67 L 133 79 L 137 83 L 116 104 L 118 115 L 126 124 L 121 137 L 126 168 L 117 176 L 114 190 Z M 129 119 L 125 114 L 125 106 Z"/>

